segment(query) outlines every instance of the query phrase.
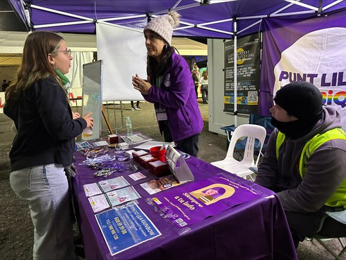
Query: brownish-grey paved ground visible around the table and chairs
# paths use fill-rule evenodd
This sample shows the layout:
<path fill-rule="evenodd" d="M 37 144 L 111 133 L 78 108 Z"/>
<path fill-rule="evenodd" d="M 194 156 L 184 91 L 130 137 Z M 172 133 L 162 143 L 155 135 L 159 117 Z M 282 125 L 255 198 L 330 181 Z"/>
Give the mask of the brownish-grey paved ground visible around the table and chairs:
<path fill-rule="evenodd" d="M 226 137 L 208 131 L 208 105 L 203 105 L 201 101 L 199 102 L 199 108 L 205 122 L 199 141 L 199 158 L 206 162 L 224 159 L 226 156 Z M 158 132 L 152 104 L 140 103 L 140 106 L 143 110 L 131 111 L 131 106 L 124 104 L 122 116 L 124 119 L 125 116 L 131 117 L 134 131 L 143 132 L 145 135 L 163 141 L 163 137 Z M 113 105 L 108 105 L 105 112 L 109 116 L 112 128 L 120 128 L 122 117 L 120 105 L 116 105 L 115 109 Z M 33 243 L 33 227 L 30 223 L 30 214 L 26 205 L 17 200 L 8 183 L 8 175 L 10 173 L 8 152 L 12 139 L 15 136 L 10 130 L 11 125 L 10 119 L 0 114 L 0 208 L 6 209 L 0 214 L 0 222 L 2 224 L 0 228 L 0 259 L 30 259 Z M 105 124 L 103 128 L 107 130 Z M 118 133 L 123 132 L 125 132 L 124 129 L 118 130 Z M 107 131 L 102 133 L 103 136 L 107 134 Z M 255 218 L 256 216 L 253 217 Z M 251 239 L 251 237 L 248 239 Z M 253 243 L 256 243 L 256 241 L 253 241 Z M 340 248 L 340 244 L 337 243 L 336 239 L 327 241 L 327 243 L 335 249 Z M 334 259 L 316 241 L 300 243 L 298 257 L 300 260 Z M 346 259 L 345 255 L 343 259 Z"/>

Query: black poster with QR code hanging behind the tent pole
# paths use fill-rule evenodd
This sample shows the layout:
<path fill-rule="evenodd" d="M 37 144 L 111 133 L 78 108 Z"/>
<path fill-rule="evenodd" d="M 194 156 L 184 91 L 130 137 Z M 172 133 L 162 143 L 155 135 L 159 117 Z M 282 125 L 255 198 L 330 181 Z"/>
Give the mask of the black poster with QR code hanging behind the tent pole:
<path fill-rule="evenodd" d="M 255 33 L 237 40 L 237 97 L 235 98 L 234 41 L 225 42 L 224 111 L 242 114 L 257 113 L 260 89 L 260 34 Z"/>

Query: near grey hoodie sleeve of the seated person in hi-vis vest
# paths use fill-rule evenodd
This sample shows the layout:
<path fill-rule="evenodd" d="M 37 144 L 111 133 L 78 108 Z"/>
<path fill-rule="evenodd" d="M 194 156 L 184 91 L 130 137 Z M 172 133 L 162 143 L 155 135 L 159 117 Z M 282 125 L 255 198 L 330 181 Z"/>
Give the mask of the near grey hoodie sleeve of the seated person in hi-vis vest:
<path fill-rule="evenodd" d="M 309 157 L 302 182 L 294 189 L 277 193 L 285 211 L 313 212 L 320 209 L 346 177 L 345 141 L 322 144 Z"/>

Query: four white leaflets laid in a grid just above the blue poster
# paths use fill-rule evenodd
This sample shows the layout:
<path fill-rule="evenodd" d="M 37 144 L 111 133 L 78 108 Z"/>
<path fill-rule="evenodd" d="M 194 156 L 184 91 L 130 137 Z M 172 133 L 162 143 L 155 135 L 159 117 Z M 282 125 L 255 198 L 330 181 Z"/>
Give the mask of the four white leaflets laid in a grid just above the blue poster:
<path fill-rule="evenodd" d="M 134 187 L 129 186 L 129 182 L 122 176 L 84 184 L 83 188 L 94 212 L 140 198 Z"/>

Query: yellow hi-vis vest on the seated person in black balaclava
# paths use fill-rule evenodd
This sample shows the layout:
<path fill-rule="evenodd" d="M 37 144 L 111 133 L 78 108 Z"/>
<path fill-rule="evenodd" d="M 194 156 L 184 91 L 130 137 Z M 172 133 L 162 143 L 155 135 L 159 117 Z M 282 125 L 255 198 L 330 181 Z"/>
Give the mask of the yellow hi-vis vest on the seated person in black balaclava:
<path fill-rule="evenodd" d="M 276 139 L 276 159 L 279 159 L 279 148 L 284 142 L 284 139 L 285 135 L 282 132 L 278 132 Z M 299 161 L 299 173 L 302 178 L 304 178 L 305 172 L 307 171 L 307 162 L 312 153 L 320 147 L 321 144 L 332 139 L 344 139 L 346 141 L 346 132 L 341 128 L 334 128 L 322 135 L 317 134 L 307 141 L 307 144 L 305 144 L 302 149 Z M 334 194 L 325 202 L 325 205 L 329 207 L 343 207 L 346 209 L 346 179 L 341 182 L 340 187 L 338 187 Z"/>

